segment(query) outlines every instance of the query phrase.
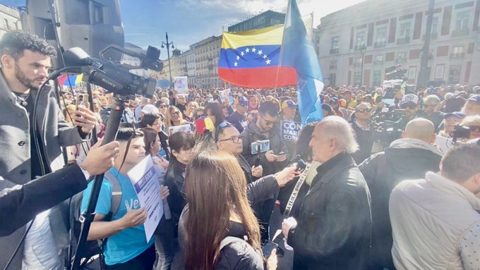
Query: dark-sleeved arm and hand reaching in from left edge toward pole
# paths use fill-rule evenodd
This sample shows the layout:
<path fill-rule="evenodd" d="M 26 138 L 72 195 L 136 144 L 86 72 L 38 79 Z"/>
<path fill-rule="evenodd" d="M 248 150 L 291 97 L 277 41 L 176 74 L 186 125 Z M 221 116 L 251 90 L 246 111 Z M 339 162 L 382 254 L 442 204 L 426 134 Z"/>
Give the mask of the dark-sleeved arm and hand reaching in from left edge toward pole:
<path fill-rule="evenodd" d="M 0 236 L 25 233 L 21 228 L 40 212 L 54 207 L 68 197 L 84 190 L 90 176 L 104 173 L 113 166 L 113 159 L 119 152 L 119 143 L 110 142 L 102 147 L 101 142 L 94 145 L 81 164 L 72 164 L 49 173 L 25 185 L 15 183 L 0 177 Z M 0 268 L 13 255 L 13 249 L 18 245 L 2 238 L 0 251 Z M 10 244 L 10 245 L 8 245 Z M 21 268 L 22 252 L 13 259 L 11 269 Z"/>

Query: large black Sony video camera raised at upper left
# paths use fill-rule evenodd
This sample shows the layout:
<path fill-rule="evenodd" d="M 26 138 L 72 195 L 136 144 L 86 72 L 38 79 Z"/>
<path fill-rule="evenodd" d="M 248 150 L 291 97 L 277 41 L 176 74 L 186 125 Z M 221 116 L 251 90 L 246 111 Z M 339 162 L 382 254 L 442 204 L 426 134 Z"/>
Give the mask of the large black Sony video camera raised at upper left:
<path fill-rule="evenodd" d="M 140 59 L 141 64 L 131 66 L 107 57 L 115 54 Z M 100 59 L 90 57 L 79 47 L 73 47 L 66 50 L 63 56 L 66 66 L 76 66 L 78 67 L 76 72 L 88 75 L 88 82 L 123 97 L 134 97 L 135 94 L 140 94 L 151 98 L 157 86 L 157 80 L 143 78 L 130 73 L 129 70 L 145 68 L 160 71 L 163 68 L 163 63 L 159 60 L 160 50 L 151 46 L 148 47 L 147 54 L 141 54 L 116 45 L 109 45 L 100 51 Z"/>

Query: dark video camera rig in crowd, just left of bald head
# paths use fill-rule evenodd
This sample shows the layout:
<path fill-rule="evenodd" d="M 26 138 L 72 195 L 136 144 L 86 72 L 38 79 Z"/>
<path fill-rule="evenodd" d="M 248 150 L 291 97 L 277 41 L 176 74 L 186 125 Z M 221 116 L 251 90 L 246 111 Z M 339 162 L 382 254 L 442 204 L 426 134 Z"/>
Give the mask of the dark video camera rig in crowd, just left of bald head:
<path fill-rule="evenodd" d="M 400 121 L 403 110 L 395 109 L 395 106 L 388 104 L 385 106 L 386 109 L 370 118 L 370 128 L 373 130 L 374 140 L 380 141 L 383 147 L 388 147 L 391 142 L 402 136 Z"/>

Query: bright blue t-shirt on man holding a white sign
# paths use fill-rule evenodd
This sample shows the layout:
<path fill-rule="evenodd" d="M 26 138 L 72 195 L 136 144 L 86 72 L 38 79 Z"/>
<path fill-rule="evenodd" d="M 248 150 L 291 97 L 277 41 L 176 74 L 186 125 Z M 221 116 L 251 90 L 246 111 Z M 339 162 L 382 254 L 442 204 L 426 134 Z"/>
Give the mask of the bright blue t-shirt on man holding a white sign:
<path fill-rule="evenodd" d="M 119 211 L 112 216 L 112 221 L 115 221 L 121 219 L 126 214 L 127 209 L 139 209 L 140 202 L 138 201 L 138 197 L 130 179 L 121 174 L 115 167 L 110 168 L 109 171 L 112 175 L 118 176 L 117 180 L 119 180 L 122 191 Z M 87 189 L 83 192 L 82 207 L 80 210 L 82 212 L 87 209 L 93 183 L 94 181 L 88 183 Z M 111 204 L 112 185 L 110 185 L 109 181 L 104 178 L 102 181 L 102 188 L 100 188 L 100 195 L 98 197 L 95 212 L 107 216 Z M 147 250 L 153 243 L 154 238 L 150 239 L 150 242 L 147 243 L 145 238 L 145 227 L 143 224 L 133 228 L 126 228 L 124 231 L 120 231 L 108 238 L 104 250 L 105 264 L 113 265 L 128 262 Z"/>

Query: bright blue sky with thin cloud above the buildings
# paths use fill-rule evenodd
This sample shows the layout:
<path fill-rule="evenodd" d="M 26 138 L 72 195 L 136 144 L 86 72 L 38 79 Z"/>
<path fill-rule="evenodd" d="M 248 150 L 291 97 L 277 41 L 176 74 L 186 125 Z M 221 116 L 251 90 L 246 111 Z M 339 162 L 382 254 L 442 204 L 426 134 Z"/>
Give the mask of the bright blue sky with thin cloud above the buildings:
<path fill-rule="evenodd" d="M 38 1 L 38 0 L 33 0 Z M 46 0 L 42 0 L 46 1 Z M 72 1 L 72 0 L 68 0 Z M 313 11 L 313 25 L 320 18 L 363 0 L 297 0 L 302 14 Z M 23 6 L 25 0 L 0 0 L 8 6 Z M 181 51 L 227 27 L 260 12 L 272 9 L 285 12 L 288 0 L 119 0 L 125 41 L 146 48 L 160 48 L 169 33 L 169 42 Z M 167 58 L 162 49 L 161 59 Z"/>

